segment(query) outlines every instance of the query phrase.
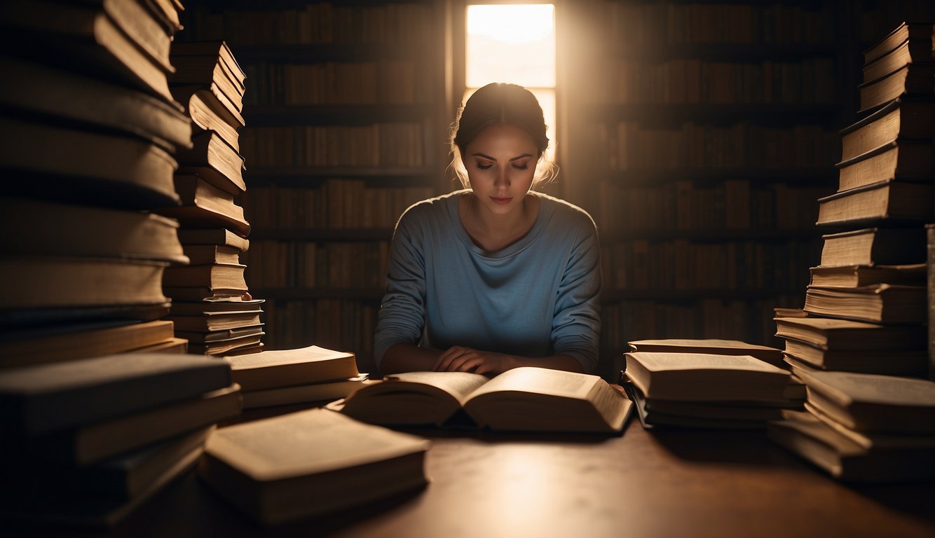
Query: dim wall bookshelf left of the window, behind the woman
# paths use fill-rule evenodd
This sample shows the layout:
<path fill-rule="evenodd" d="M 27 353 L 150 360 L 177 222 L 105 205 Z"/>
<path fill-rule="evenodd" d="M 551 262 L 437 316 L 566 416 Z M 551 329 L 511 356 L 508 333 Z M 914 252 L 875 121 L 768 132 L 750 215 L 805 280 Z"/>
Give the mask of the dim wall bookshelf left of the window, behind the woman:
<path fill-rule="evenodd" d="M 267 347 L 372 339 L 396 219 L 444 180 L 443 6 L 428 0 L 186 3 L 192 39 L 247 73 L 247 281 Z"/>

